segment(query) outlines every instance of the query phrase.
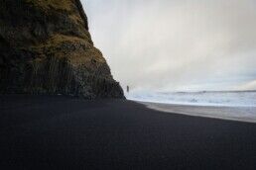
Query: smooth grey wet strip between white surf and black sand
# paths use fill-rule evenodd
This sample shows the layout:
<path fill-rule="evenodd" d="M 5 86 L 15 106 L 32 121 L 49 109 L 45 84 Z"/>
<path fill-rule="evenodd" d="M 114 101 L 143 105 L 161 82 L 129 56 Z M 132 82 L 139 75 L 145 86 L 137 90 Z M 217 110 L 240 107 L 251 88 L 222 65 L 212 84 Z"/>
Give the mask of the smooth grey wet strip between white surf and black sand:
<path fill-rule="evenodd" d="M 132 100 L 131 100 L 132 101 Z M 171 114 L 182 114 L 218 120 L 256 123 L 256 107 L 250 106 L 200 106 L 186 104 L 166 104 L 155 102 L 133 101 L 149 109 Z"/>

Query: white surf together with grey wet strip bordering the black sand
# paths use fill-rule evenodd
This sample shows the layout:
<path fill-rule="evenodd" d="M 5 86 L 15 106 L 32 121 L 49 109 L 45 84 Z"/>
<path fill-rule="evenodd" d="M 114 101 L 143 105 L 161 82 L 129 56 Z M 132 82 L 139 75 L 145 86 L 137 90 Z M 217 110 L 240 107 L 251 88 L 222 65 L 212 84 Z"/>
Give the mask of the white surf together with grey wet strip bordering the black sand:
<path fill-rule="evenodd" d="M 162 112 L 256 123 L 256 91 L 176 93 L 133 91 L 126 94 L 126 97 Z"/>

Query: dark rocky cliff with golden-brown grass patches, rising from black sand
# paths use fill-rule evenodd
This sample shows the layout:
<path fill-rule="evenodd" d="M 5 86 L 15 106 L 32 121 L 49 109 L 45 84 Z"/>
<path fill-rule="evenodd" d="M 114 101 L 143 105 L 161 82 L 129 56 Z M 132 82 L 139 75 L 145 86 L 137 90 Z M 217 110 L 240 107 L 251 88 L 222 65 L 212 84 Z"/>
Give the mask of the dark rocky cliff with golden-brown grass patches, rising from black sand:
<path fill-rule="evenodd" d="M 0 1 L 0 93 L 123 98 L 79 0 Z"/>

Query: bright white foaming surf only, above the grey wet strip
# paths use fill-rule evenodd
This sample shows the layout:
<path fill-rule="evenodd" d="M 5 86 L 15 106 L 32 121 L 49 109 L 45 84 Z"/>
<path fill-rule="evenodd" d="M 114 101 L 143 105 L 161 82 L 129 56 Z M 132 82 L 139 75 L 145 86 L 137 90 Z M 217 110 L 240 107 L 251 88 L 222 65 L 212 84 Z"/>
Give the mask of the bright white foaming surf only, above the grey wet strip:
<path fill-rule="evenodd" d="M 238 92 L 149 92 L 132 91 L 127 99 L 140 102 L 192 106 L 256 107 L 256 91 Z"/>

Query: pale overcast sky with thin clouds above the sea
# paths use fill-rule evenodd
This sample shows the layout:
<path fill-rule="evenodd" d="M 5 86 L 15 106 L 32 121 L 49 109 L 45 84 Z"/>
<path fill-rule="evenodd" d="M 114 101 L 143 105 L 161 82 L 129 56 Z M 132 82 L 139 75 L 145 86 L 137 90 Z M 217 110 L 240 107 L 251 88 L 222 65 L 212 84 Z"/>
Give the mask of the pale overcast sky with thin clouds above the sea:
<path fill-rule="evenodd" d="M 255 0 L 82 0 L 123 86 L 256 89 Z"/>

